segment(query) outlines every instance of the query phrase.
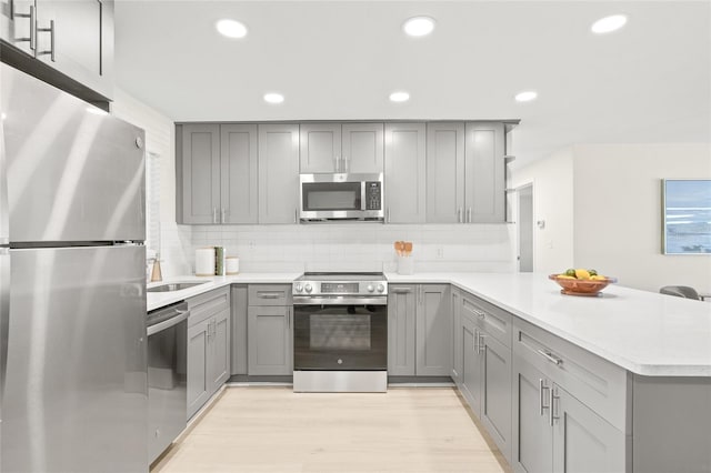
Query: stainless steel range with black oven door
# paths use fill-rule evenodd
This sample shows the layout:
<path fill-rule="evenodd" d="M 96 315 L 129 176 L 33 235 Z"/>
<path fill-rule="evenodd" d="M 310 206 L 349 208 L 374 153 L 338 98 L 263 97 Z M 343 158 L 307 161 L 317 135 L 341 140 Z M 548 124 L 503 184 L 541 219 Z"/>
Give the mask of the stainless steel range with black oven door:
<path fill-rule="evenodd" d="M 294 392 L 385 392 L 382 273 L 304 273 L 292 285 Z"/>

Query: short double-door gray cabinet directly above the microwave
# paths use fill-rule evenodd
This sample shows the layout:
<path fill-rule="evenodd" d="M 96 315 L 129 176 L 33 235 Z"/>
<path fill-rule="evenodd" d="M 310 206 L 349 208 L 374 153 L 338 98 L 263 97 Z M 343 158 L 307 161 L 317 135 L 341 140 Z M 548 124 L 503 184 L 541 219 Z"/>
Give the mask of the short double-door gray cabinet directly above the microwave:
<path fill-rule="evenodd" d="M 382 123 L 302 123 L 300 130 L 302 173 L 382 172 Z"/>

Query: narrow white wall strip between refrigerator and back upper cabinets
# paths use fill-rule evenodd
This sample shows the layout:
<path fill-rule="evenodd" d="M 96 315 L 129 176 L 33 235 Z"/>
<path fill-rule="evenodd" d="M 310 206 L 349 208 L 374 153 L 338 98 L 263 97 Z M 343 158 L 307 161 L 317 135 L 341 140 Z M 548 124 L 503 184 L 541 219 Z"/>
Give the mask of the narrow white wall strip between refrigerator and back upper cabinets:
<path fill-rule="evenodd" d="M 176 127 L 173 121 L 120 89 L 114 91 L 111 112 L 146 130 L 146 151 L 160 158 L 160 251 L 164 276 L 190 270 L 176 224 Z M 154 250 L 154 249 L 153 249 Z"/>

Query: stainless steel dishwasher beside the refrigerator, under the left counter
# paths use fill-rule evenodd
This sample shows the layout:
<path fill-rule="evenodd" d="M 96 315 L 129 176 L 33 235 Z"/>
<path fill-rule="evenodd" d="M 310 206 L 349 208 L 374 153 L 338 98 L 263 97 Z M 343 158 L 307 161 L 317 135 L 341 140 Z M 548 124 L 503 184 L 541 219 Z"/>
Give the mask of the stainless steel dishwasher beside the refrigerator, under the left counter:
<path fill-rule="evenodd" d="M 187 425 L 188 304 L 180 302 L 148 313 L 148 462 Z"/>

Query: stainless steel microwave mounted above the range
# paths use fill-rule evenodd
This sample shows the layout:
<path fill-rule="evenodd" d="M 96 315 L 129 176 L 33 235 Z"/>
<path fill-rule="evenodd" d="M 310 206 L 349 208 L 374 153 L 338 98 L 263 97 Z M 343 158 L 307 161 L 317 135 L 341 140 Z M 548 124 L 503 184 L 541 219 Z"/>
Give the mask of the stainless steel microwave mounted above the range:
<path fill-rule="evenodd" d="M 303 222 L 383 221 L 382 173 L 301 174 L 300 184 Z"/>

